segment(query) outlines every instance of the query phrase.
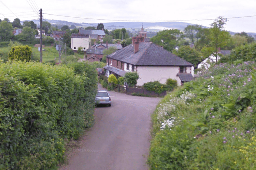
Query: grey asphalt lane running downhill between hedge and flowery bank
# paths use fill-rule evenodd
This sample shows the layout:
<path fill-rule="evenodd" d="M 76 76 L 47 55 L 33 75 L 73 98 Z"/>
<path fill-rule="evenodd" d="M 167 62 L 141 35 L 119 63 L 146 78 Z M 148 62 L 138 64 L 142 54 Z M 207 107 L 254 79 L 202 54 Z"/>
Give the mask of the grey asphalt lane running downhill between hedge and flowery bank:
<path fill-rule="evenodd" d="M 148 170 L 150 115 L 161 98 L 109 94 L 111 107 L 95 108 L 93 128 L 60 170 Z"/>

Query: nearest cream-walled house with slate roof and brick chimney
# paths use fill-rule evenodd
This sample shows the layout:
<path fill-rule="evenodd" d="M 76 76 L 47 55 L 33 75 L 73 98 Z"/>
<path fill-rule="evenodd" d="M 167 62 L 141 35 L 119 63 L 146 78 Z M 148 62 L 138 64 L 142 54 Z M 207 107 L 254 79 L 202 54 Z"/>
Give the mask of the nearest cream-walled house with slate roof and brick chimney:
<path fill-rule="evenodd" d="M 137 39 L 138 38 L 138 39 Z M 193 79 L 194 65 L 172 54 L 152 42 L 139 42 L 141 37 L 133 37 L 133 43 L 107 57 L 107 76 L 124 76 L 136 71 L 140 79 L 137 85 L 151 81 L 165 84 L 171 78 L 178 86 Z M 142 38 L 144 40 L 144 38 Z"/>

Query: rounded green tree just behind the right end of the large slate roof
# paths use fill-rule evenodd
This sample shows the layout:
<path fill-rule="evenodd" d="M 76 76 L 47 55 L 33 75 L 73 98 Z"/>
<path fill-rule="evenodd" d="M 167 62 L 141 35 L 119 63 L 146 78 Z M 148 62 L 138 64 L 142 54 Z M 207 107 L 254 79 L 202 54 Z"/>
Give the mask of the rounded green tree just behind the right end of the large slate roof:
<path fill-rule="evenodd" d="M 202 53 L 196 51 L 190 46 L 181 46 L 178 51 L 173 51 L 173 53 L 180 58 L 192 63 L 197 67 L 197 65 L 202 61 Z"/>

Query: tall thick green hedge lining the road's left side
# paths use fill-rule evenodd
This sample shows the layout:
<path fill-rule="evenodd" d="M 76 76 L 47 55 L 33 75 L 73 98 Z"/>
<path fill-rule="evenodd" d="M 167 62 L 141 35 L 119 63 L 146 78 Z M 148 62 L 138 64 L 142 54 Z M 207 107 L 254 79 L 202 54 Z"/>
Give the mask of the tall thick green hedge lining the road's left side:
<path fill-rule="evenodd" d="M 97 74 L 82 64 L 0 65 L 1 170 L 57 169 L 64 139 L 92 125 Z"/>

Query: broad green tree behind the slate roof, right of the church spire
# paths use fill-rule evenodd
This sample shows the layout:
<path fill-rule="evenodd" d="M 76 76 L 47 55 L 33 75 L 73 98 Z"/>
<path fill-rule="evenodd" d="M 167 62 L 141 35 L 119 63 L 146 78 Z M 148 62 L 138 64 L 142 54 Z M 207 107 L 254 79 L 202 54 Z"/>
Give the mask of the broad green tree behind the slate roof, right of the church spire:
<path fill-rule="evenodd" d="M 163 46 L 167 51 L 173 51 L 173 49 L 179 45 L 179 41 L 183 40 L 183 33 L 177 29 L 159 31 L 156 36 L 152 37 L 150 41 L 154 44 Z"/>

